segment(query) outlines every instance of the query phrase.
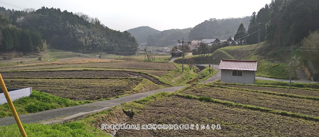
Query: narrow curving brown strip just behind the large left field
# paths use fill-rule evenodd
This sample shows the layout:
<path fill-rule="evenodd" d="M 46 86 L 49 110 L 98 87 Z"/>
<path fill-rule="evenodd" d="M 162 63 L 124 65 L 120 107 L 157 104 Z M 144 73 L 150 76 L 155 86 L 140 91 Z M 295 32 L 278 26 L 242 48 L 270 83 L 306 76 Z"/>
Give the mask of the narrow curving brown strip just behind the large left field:
<path fill-rule="evenodd" d="M 155 84 L 163 85 L 160 80 L 137 72 L 124 71 L 34 71 L 34 72 L 2 72 L 2 77 L 133 77 L 145 78 Z"/>

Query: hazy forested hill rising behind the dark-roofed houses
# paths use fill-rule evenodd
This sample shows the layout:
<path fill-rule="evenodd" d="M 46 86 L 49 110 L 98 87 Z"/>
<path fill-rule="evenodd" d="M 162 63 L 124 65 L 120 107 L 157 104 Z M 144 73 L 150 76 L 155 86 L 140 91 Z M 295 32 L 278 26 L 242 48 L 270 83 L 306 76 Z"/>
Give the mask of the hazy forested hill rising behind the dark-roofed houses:
<path fill-rule="evenodd" d="M 196 25 L 188 35 L 188 39 L 196 40 L 202 38 L 218 38 L 228 39 L 229 36 L 234 36 L 237 32 L 238 25 L 244 24 L 247 28 L 249 25 L 250 17 L 243 18 L 226 18 L 226 19 L 215 19 L 211 18 L 204 22 Z"/>

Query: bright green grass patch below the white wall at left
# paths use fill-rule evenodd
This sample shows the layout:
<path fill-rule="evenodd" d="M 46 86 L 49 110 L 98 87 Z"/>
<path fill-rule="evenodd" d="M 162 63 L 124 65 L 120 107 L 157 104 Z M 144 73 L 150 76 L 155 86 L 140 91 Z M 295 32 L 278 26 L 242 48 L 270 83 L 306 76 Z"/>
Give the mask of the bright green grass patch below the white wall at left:
<path fill-rule="evenodd" d="M 55 97 L 51 94 L 35 90 L 32 90 L 31 96 L 13 101 L 14 108 L 18 115 L 77 106 L 86 103 L 92 103 L 92 101 L 72 101 L 70 99 Z M 8 116 L 12 116 L 9 105 L 7 103 L 0 105 L 0 118 Z"/>

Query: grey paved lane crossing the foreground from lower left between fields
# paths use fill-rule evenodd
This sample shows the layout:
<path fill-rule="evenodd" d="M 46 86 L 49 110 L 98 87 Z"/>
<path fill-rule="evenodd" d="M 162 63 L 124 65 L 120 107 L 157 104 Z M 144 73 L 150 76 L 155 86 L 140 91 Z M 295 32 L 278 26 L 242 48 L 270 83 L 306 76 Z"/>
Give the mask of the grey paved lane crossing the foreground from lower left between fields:
<path fill-rule="evenodd" d="M 129 96 L 124 96 L 121 98 L 107 100 L 107 101 L 97 101 L 94 103 L 66 107 L 54 110 L 47 110 L 39 113 L 19 115 L 21 122 L 23 123 L 42 123 L 42 124 L 55 124 L 55 123 L 66 123 L 68 121 L 82 118 L 88 114 L 104 111 L 110 109 L 114 106 L 120 105 L 125 102 L 132 102 L 135 100 L 143 99 L 147 96 L 151 96 L 159 92 L 174 92 L 180 90 L 186 86 L 170 87 L 155 91 L 149 91 L 144 93 L 133 94 Z M 0 119 L 0 126 L 14 124 L 15 120 L 13 117 L 6 117 Z"/>

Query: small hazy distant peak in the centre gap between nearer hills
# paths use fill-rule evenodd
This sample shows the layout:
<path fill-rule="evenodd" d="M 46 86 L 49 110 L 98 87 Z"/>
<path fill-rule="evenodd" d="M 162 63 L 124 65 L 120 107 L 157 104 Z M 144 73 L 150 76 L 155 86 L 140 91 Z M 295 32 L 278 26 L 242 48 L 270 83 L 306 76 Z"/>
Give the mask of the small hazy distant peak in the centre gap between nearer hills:
<path fill-rule="evenodd" d="M 132 36 L 136 38 L 138 43 L 146 43 L 148 40 L 148 37 L 150 35 L 155 35 L 156 33 L 159 33 L 160 30 L 154 29 L 149 26 L 140 26 L 137 28 L 132 28 L 127 30 Z"/>

